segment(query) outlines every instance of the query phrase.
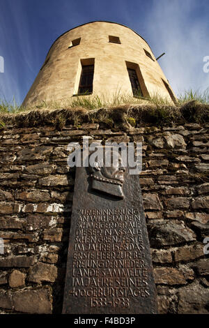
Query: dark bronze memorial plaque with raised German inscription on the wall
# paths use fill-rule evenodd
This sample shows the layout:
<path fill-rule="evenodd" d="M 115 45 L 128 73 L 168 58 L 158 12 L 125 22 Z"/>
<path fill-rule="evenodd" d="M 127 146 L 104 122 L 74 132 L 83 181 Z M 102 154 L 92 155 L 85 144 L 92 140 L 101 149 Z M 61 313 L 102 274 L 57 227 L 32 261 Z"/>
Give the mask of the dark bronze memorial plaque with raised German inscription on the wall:
<path fill-rule="evenodd" d="M 157 313 L 138 175 L 77 167 L 63 313 Z"/>

